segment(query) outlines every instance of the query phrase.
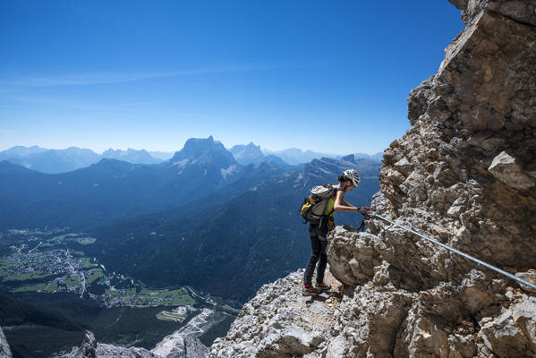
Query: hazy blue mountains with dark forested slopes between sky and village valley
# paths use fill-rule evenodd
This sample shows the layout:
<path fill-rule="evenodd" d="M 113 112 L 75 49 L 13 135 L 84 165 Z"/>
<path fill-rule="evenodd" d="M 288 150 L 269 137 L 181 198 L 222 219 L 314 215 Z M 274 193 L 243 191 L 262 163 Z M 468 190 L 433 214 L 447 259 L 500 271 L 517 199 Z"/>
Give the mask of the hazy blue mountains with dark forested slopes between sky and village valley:
<path fill-rule="evenodd" d="M 298 208 L 311 186 L 354 168 L 362 183 L 346 200 L 366 205 L 379 190 L 379 166 L 353 155 L 301 167 L 241 165 L 212 137 L 186 141 L 153 165 L 101 159 L 50 175 L 3 161 L 0 229 L 85 230 L 98 240 L 84 250 L 106 268 L 149 286 L 188 285 L 243 302 L 307 259 Z M 357 216 L 337 219 L 356 225 Z"/>

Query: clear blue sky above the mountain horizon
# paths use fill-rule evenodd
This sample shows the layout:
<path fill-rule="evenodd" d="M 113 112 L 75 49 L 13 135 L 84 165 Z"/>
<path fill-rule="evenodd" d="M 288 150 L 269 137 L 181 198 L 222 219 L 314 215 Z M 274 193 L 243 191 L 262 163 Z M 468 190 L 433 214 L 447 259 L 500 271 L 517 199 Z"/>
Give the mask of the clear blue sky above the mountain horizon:
<path fill-rule="evenodd" d="M 447 0 L 0 3 L 0 150 L 375 153 L 463 29 Z"/>

